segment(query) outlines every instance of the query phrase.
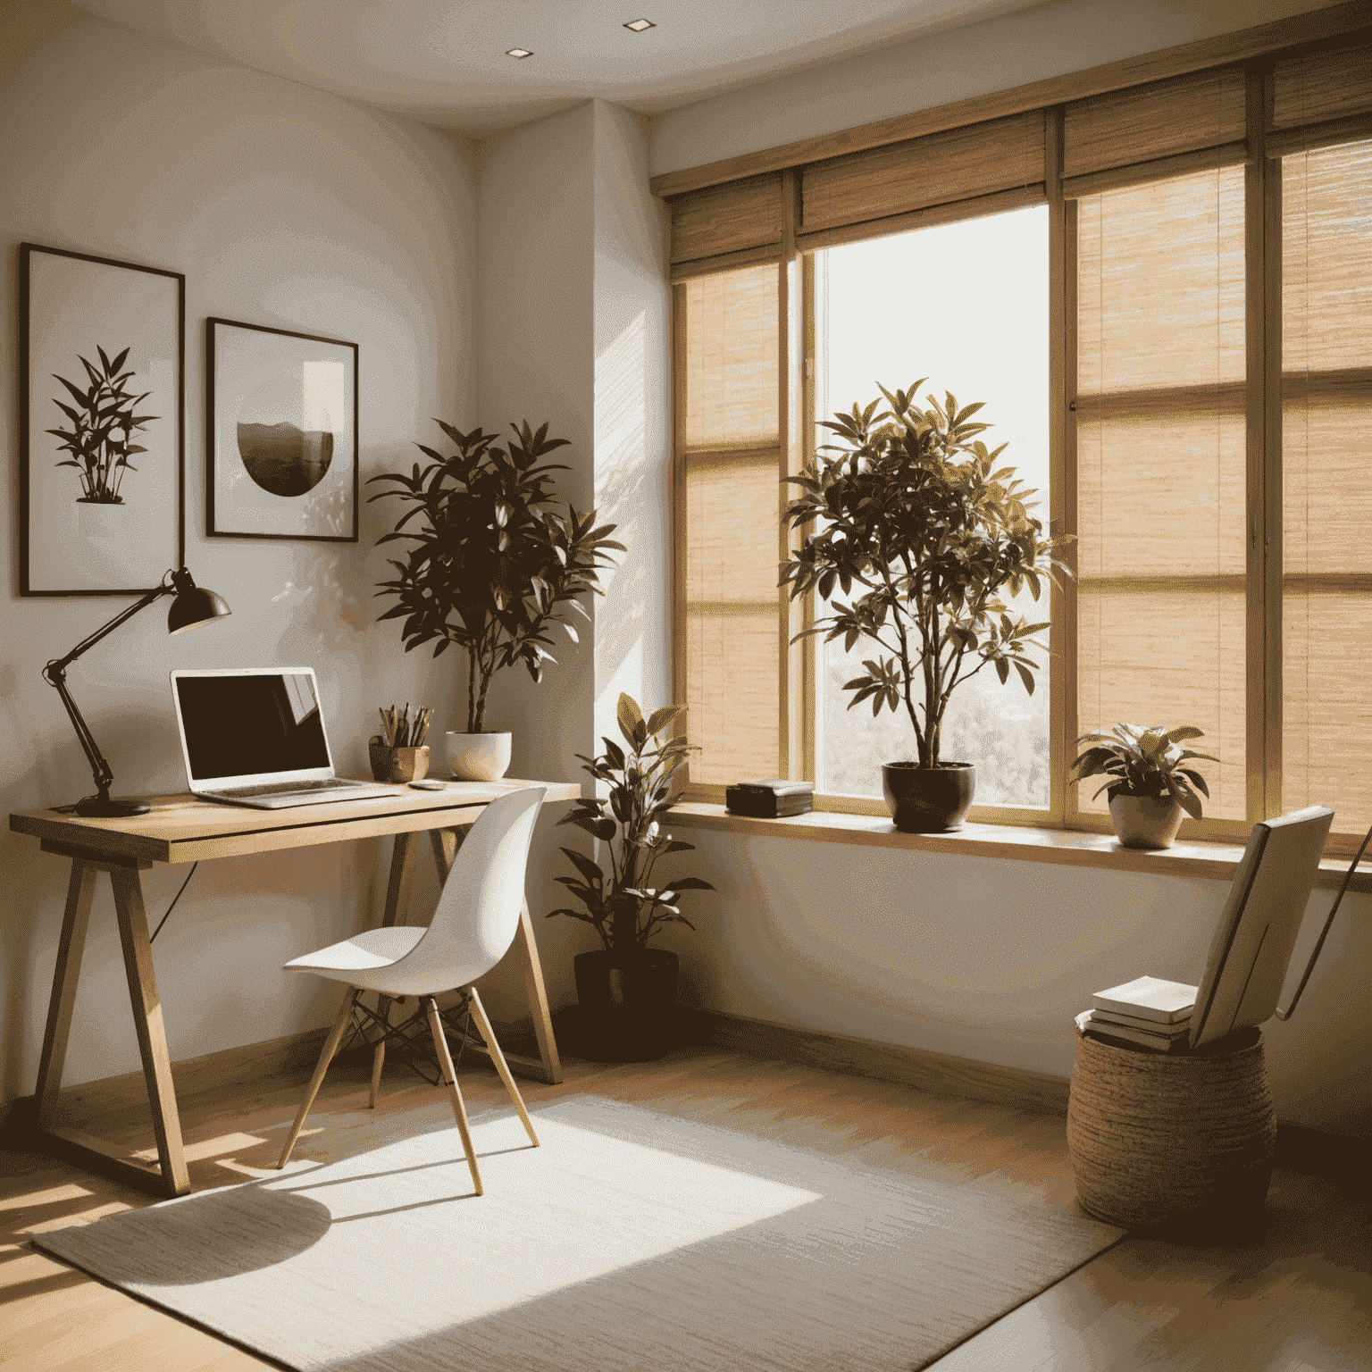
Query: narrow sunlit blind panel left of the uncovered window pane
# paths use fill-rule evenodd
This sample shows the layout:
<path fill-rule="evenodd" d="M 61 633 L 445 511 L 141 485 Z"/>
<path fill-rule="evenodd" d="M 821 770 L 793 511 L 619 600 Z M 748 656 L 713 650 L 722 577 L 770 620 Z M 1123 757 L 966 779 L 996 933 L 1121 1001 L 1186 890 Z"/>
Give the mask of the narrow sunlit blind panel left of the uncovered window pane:
<path fill-rule="evenodd" d="M 712 785 L 778 772 L 777 268 L 683 289 L 686 719 L 691 783 Z"/>

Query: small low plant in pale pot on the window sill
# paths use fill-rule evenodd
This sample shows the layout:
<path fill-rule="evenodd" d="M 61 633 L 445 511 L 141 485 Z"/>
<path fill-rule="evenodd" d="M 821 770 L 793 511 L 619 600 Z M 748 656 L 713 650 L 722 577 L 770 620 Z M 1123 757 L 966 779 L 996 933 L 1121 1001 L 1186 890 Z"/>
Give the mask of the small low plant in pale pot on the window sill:
<path fill-rule="evenodd" d="M 1195 759 L 1218 761 L 1181 744 L 1205 738 L 1192 724 L 1180 729 L 1139 729 L 1115 724 L 1109 734 L 1083 734 L 1077 746 L 1092 744 L 1073 764 L 1072 782 L 1107 777 L 1110 819 L 1125 848 L 1170 848 L 1181 826 L 1181 814 L 1200 818 L 1200 796 L 1209 797 L 1205 777 L 1184 766 Z M 1092 796 L 1095 800 L 1095 796 Z"/>

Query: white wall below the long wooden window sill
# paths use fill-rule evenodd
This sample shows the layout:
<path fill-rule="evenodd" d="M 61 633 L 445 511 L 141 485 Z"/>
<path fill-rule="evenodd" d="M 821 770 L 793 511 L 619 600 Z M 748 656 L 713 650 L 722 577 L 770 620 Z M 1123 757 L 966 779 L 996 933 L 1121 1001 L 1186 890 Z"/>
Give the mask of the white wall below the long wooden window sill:
<path fill-rule="evenodd" d="M 1139 975 L 1196 982 L 1228 884 L 681 831 L 700 932 L 683 970 L 713 1010 L 1072 1073 L 1073 1017 Z M 1316 892 L 1290 999 L 1334 899 Z M 1264 1033 L 1279 1115 L 1372 1132 L 1372 901 L 1349 896 L 1299 1008 Z"/>

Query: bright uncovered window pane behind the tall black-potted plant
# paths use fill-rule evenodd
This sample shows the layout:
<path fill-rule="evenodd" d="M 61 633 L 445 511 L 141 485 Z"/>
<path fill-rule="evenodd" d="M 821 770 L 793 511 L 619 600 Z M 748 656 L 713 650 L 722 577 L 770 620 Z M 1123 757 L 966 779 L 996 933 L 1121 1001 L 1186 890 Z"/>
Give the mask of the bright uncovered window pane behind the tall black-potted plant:
<path fill-rule="evenodd" d="M 988 446 L 1040 493 L 1048 521 L 1048 210 L 1029 206 L 982 218 L 868 239 L 815 254 L 815 412 L 866 406 L 927 377 L 943 401 L 986 401 Z M 921 401 L 921 403 L 925 403 Z M 825 442 L 825 435 L 820 442 Z M 1048 619 L 1028 593 L 1015 606 Z M 826 613 L 826 611 L 819 611 Z M 873 718 L 841 687 L 862 672 L 871 643 L 845 653 L 816 642 L 815 785 L 829 794 L 881 794 L 881 764 L 914 756 L 904 711 Z M 1044 668 L 1047 659 L 1040 654 Z M 977 764 L 982 804 L 1048 808 L 1048 678 L 1029 696 L 1013 678 L 982 671 L 959 686 L 944 718 L 943 755 Z"/>

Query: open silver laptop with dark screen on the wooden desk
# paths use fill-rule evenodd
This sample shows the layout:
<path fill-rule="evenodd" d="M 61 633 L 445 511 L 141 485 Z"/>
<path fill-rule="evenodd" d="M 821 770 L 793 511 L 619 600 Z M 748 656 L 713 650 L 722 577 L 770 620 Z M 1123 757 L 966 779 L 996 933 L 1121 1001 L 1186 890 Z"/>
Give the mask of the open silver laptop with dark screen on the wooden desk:
<path fill-rule="evenodd" d="M 333 771 L 309 667 L 178 668 L 172 700 L 191 790 L 255 809 L 398 796 Z"/>

